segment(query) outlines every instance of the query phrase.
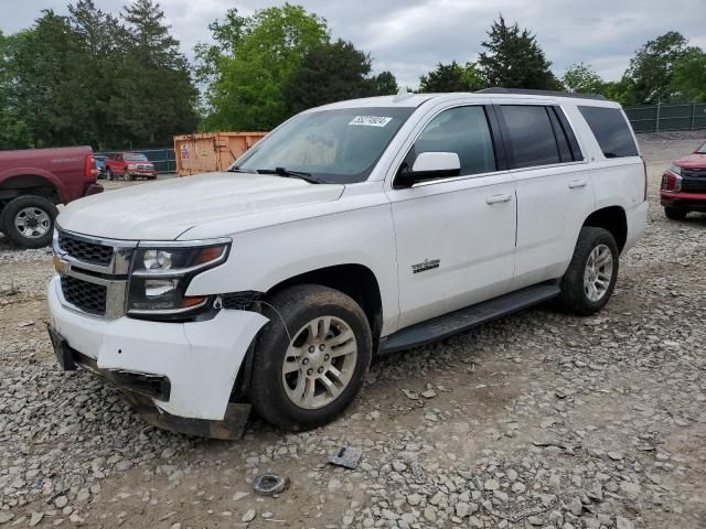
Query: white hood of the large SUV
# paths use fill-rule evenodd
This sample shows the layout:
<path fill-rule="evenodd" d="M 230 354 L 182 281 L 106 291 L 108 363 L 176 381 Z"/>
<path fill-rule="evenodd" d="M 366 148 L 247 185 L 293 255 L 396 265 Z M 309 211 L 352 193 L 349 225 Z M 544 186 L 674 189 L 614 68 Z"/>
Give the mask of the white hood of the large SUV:
<path fill-rule="evenodd" d="M 263 174 L 208 173 L 133 185 L 66 206 L 66 230 L 127 240 L 174 240 L 218 220 L 338 199 L 342 184 L 310 184 Z M 215 236 L 228 234 L 214 234 Z"/>

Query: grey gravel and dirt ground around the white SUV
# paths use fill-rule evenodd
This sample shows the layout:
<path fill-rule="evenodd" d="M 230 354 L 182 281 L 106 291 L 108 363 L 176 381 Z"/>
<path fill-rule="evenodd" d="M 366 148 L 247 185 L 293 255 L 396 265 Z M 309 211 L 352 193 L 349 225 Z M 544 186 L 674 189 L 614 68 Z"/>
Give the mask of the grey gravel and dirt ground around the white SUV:
<path fill-rule="evenodd" d="M 641 138 L 650 224 L 599 315 L 546 304 L 382 358 L 344 417 L 297 435 L 167 433 L 61 373 L 50 253 L 0 238 L 0 526 L 706 527 L 706 215 L 657 202 L 663 166 L 703 139 Z M 342 445 L 356 469 L 327 464 Z M 289 488 L 253 494 L 264 471 Z"/>

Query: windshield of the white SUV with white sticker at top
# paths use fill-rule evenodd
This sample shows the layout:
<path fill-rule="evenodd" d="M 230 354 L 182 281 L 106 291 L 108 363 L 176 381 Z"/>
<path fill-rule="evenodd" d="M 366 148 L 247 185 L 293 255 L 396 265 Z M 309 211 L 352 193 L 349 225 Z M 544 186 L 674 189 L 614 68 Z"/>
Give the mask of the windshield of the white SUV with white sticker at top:
<path fill-rule="evenodd" d="M 341 108 L 296 116 L 231 170 L 299 171 L 324 183 L 363 182 L 414 108 Z"/>

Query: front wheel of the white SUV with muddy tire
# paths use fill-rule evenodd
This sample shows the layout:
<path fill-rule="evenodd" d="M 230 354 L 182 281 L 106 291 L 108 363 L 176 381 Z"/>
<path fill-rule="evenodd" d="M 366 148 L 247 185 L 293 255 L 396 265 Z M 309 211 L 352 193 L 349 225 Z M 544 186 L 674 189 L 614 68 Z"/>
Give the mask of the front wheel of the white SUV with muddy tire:
<path fill-rule="evenodd" d="M 367 317 L 346 294 L 315 284 L 291 287 L 275 294 L 269 303 L 277 312 L 264 305 L 263 312 L 270 321 L 258 334 L 253 350 L 250 402 L 260 417 L 285 430 L 301 431 L 327 424 L 363 389 L 373 349 Z M 325 323 L 317 324 L 317 335 L 312 338 L 309 323 L 324 316 L 331 320 L 329 332 Z M 299 356 L 288 356 L 295 350 L 290 348 L 288 333 L 298 346 Z M 341 339 L 343 342 L 336 344 Z M 340 356 L 327 354 L 333 350 Z M 342 354 L 343 350 L 349 353 Z M 310 367 L 304 369 L 306 365 Z M 335 367 L 341 378 L 328 366 Z M 285 369 L 290 373 L 285 375 Z M 311 382 L 312 377 L 318 380 Z M 329 384 L 324 384 L 323 378 Z M 334 389 L 327 390 L 331 386 Z"/>

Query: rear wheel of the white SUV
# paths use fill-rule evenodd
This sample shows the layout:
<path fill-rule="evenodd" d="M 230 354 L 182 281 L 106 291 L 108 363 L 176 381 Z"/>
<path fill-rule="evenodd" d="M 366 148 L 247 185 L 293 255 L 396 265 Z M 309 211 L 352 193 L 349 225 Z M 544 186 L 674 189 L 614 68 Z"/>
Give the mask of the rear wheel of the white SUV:
<path fill-rule="evenodd" d="M 561 307 L 579 316 L 588 316 L 600 311 L 616 288 L 619 257 L 618 245 L 610 231 L 590 226 L 582 227 L 569 268 L 561 278 Z M 591 267 L 591 262 L 603 261 L 607 262 L 602 266 Z"/>

